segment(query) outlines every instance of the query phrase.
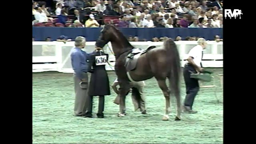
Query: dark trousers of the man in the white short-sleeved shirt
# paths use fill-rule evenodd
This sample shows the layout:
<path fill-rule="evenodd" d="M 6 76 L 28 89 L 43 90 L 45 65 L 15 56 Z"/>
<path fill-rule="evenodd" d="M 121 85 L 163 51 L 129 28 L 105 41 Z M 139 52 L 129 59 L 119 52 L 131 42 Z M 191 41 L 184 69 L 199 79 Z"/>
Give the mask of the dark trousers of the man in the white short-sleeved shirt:
<path fill-rule="evenodd" d="M 199 84 L 197 79 L 190 78 L 190 71 L 196 73 L 196 70 L 193 66 L 186 64 L 183 70 L 183 76 L 186 84 L 186 97 L 184 100 L 184 106 L 189 106 L 192 110 L 194 99 L 199 91 Z"/>

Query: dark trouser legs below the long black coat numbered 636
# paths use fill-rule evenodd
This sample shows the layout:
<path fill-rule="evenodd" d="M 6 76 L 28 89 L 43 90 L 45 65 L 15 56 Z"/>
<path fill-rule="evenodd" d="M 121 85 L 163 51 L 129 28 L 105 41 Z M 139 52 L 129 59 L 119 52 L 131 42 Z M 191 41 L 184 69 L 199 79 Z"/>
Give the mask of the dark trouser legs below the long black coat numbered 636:
<path fill-rule="evenodd" d="M 87 113 L 92 113 L 92 97 L 88 96 L 88 109 Z M 104 102 L 105 102 L 105 96 L 99 96 L 99 104 L 98 104 L 98 114 L 103 114 L 104 112 Z"/>

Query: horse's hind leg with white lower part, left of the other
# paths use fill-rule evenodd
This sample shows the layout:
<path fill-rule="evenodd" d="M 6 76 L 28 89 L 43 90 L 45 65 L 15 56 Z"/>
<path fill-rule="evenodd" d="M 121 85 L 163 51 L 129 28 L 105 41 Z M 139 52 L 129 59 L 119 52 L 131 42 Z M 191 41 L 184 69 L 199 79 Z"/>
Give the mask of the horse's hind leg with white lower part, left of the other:
<path fill-rule="evenodd" d="M 158 86 L 161 88 L 164 98 L 165 98 L 165 114 L 162 120 L 168 120 L 170 114 L 170 90 L 168 90 L 168 87 L 166 85 L 165 80 L 157 80 Z"/>

